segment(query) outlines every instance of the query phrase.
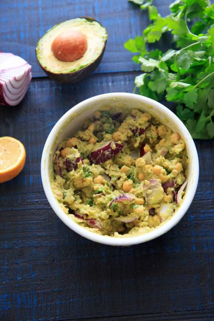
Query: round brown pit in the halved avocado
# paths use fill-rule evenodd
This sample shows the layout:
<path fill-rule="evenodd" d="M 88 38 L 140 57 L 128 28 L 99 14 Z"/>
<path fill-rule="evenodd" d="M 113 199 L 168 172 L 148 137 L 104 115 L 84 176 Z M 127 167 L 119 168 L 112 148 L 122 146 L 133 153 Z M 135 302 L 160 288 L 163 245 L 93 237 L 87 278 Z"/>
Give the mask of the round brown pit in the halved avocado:
<path fill-rule="evenodd" d="M 66 30 L 52 42 L 51 51 L 54 56 L 64 62 L 80 59 L 88 48 L 86 36 L 78 30 Z"/>

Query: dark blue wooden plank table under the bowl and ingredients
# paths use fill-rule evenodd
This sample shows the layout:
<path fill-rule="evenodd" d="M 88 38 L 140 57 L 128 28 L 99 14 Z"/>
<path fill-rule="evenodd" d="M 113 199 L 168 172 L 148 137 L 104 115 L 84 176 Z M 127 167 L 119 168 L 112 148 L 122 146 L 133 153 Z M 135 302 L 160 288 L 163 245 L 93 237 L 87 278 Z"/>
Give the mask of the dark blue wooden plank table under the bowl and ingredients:
<path fill-rule="evenodd" d="M 161 14 L 170 0 L 156 0 Z M 46 78 L 35 44 L 54 24 L 92 16 L 108 30 L 101 65 L 85 81 L 62 85 Z M 65 226 L 43 192 L 40 159 L 57 120 L 78 102 L 105 92 L 132 92 L 138 65 L 123 48 L 148 23 L 126 0 L 0 1 L 0 50 L 32 65 L 22 103 L 0 107 L 0 135 L 20 139 L 22 173 L 0 185 L 0 320 L 214 320 L 214 150 L 196 141 L 200 181 L 183 220 L 138 246 L 113 248 Z"/>

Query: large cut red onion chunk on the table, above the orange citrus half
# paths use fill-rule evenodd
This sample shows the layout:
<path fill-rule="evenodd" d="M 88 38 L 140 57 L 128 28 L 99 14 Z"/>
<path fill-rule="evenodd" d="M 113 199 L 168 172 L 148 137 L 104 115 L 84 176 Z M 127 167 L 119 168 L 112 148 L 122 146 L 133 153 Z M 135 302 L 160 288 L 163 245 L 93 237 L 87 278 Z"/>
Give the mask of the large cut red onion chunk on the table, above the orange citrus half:
<path fill-rule="evenodd" d="M 0 104 L 18 105 L 31 82 L 31 65 L 19 56 L 0 52 Z"/>

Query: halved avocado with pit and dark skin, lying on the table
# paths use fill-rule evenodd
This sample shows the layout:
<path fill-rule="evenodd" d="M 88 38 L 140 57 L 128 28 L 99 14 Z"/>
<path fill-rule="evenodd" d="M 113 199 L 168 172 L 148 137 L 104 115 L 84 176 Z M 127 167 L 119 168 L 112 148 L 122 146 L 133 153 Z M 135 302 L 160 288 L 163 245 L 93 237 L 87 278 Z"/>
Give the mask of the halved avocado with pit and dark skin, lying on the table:
<path fill-rule="evenodd" d="M 76 38 L 69 39 L 67 33 L 70 31 L 71 38 L 73 34 Z M 81 39 L 78 41 L 80 33 L 82 38 L 79 37 Z M 93 18 L 81 17 L 67 20 L 53 26 L 39 39 L 36 45 L 36 57 L 42 70 L 51 79 L 65 83 L 78 82 L 89 76 L 100 64 L 107 37 L 106 29 Z M 85 39 L 83 44 L 80 43 L 82 39 L 83 41 Z M 56 42 L 58 47 L 53 46 Z M 63 58 L 60 56 L 62 53 L 65 53 Z M 72 61 L 67 61 L 67 54 L 71 54 Z M 74 56 L 77 57 L 76 60 Z"/>

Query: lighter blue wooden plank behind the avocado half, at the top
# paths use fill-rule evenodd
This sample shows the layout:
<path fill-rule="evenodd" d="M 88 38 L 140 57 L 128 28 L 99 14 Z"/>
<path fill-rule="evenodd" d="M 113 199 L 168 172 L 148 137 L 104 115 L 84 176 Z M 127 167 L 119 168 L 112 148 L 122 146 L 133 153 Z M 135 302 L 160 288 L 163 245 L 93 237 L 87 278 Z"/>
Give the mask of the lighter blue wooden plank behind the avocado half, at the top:
<path fill-rule="evenodd" d="M 160 13 L 168 13 L 167 1 L 156 1 Z M 94 17 L 108 31 L 108 42 L 96 73 L 138 70 L 123 44 L 141 35 L 148 25 L 146 12 L 130 2 L 109 0 L 7 0 L 1 2 L 0 50 L 21 56 L 32 65 L 33 77 L 46 77 L 35 57 L 35 45 L 49 28 L 58 22 L 80 16 Z"/>

